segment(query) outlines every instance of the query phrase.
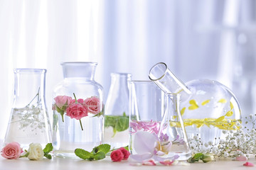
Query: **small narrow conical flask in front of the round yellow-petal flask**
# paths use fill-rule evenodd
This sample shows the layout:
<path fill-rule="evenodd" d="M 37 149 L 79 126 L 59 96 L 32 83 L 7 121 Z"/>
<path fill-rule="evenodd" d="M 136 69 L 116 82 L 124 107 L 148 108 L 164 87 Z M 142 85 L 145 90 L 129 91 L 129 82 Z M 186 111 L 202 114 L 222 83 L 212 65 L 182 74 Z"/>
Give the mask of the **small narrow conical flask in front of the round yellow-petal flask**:
<path fill-rule="evenodd" d="M 166 109 L 159 129 L 157 149 L 162 157 L 185 161 L 191 157 L 186 130 L 180 113 L 180 94 L 166 94 Z"/>

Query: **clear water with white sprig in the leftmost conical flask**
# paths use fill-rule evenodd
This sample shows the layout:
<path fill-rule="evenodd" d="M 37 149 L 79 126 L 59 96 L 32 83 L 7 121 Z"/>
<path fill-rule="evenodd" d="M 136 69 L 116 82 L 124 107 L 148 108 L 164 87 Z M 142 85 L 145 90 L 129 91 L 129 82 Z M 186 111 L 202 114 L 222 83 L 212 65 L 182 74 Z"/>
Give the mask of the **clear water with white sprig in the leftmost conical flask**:
<path fill-rule="evenodd" d="M 24 149 L 32 142 L 45 147 L 50 136 L 43 112 L 39 108 L 13 108 L 4 142 L 18 142 Z"/>

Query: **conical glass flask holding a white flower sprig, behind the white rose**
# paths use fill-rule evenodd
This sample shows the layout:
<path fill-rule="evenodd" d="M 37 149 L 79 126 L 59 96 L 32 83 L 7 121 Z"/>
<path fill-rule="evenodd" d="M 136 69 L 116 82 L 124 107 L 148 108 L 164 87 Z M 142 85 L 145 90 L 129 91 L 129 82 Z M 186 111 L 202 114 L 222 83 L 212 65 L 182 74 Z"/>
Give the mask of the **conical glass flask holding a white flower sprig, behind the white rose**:
<path fill-rule="evenodd" d="M 45 100 L 46 69 L 14 69 L 14 103 L 4 143 L 18 142 L 28 148 L 32 142 L 51 142 L 51 128 Z"/>

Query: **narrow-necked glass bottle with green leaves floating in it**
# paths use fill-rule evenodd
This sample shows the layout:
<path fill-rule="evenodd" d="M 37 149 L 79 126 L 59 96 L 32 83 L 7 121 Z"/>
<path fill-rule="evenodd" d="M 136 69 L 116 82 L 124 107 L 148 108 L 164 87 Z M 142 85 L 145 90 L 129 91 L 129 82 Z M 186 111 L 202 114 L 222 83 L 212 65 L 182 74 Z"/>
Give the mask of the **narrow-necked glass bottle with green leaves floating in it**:
<path fill-rule="evenodd" d="M 131 74 L 111 74 L 111 86 L 105 105 L 104 143 L 114 148 L 129 144 L 129 80 Z"/>

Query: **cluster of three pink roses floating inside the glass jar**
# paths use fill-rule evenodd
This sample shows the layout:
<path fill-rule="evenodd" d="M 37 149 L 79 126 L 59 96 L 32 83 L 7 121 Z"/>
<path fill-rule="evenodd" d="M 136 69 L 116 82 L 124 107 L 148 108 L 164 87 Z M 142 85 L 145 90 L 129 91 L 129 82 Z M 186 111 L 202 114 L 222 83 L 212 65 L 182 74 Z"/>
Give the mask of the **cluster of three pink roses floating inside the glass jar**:
<path fill-rule="evenodd" d="M 56 96 L 54 100 L 53 110 L 58 111 L 62 117 L 66 113 L 70 118 L 80 120 L 87 116 L 88 113 L 97 115 L 101 110 L 100 99 L 96 96 L 86 98 L 85 100 L 82 98 L 76 100 L 76 98 L 73 99 L 70 96 Z"/>

